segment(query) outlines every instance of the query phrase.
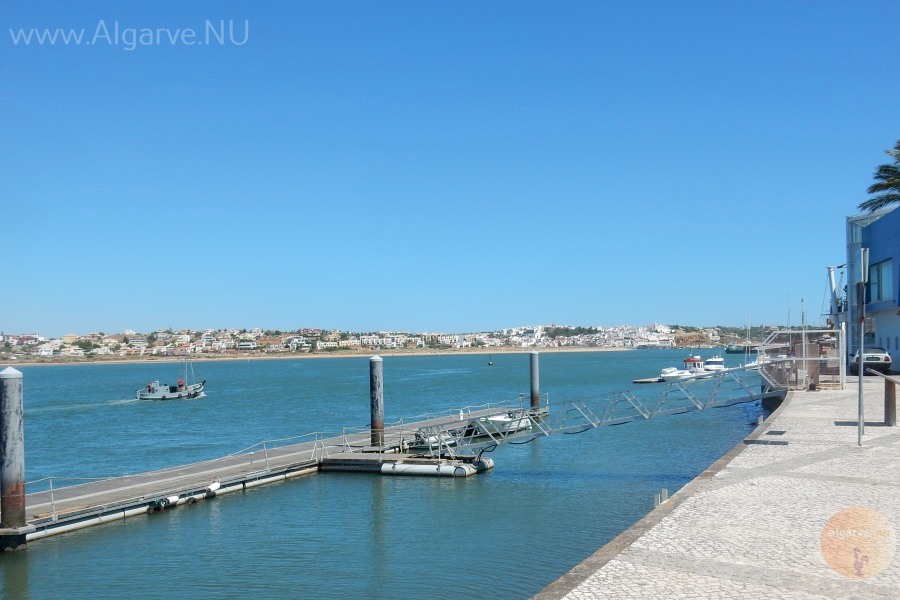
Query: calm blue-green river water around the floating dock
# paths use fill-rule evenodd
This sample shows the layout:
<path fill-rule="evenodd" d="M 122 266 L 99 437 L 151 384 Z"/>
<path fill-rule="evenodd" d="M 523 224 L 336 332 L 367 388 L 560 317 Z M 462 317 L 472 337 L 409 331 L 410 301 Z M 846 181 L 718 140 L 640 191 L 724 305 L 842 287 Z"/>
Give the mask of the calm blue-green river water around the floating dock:
<path fill-rule="evenodd" d="M 541 392 L 552 406 L 596 398 L 684 354 L 543 353 Z M 492 358 L 385 357 L 385 421 L 527 395 L 528 355 Z M 173 363 L 19 367 L 27 480 L 71 484 L 365 425 L 368 364 L 196 363 L 207 397 L 180 402 L 133 399 L 150 379 L 174 382 Z M 507 444 L 493 471 L 467 479 L 318 474 L 50 537 L 0 556 L 0 595 L 527 598 L 644 516 L 660 488 L 674 493 L 737 444 L 760 411 Z"/>

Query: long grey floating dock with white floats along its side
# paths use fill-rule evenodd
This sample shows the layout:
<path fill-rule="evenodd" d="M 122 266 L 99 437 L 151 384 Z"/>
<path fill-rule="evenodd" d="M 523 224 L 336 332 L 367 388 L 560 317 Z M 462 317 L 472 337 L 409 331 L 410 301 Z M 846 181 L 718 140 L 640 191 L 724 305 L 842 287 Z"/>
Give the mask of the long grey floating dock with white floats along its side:
<path fill-rule="evenodd" d="M 497 410 L 468 411 L 465 419 L 496 414 Z M 51 486 L 26 495 L 26 526 L 10 535 L 38 540 L 320 471 L 470 477 L 493 468 L 490 458 L 476 454 L 431 456 L 428 451 L 409 451 L 413 432 L 423 427 L 452 427 L 458 421 L 453 416 L 386 427 L 381 446 L 370 444 L 368 430 L 329 438 L 315 435 L 312 441 L 264 447 L 201 463 L 55 489 Z M 0 530 L 0 536 L 6 535 L 4 531 Z"/>

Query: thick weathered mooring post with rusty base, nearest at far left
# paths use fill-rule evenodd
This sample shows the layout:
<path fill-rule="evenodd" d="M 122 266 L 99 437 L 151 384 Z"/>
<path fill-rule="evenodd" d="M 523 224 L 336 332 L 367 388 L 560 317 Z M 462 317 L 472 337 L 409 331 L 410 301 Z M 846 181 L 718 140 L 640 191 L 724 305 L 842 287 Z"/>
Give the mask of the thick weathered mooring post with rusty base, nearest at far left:
<path fill-rule="evenodd" d="M 0 371 L 0 549 L 25 548 L 25 426 L 22 373 Z"/>

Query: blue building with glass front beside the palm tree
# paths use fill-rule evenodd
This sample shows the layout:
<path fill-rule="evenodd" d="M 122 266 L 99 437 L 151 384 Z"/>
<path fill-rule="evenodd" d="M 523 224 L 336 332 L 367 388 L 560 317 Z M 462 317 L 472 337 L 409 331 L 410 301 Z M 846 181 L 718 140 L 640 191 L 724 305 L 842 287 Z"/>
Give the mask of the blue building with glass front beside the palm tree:
<path fill-rule="evenodd" d="M 868 286 L 864 324 L 865 344 L 881 346 L 891 355 L 891 364 L 900 361 L 900 207 L 847 217 L 847 308 L 850 354 L 859 345 L 860 249 L 869 249 Z M 849 318 L 848 318 L 849 317 Z M 894 367 L 895 371 L 900 367 Z"/>

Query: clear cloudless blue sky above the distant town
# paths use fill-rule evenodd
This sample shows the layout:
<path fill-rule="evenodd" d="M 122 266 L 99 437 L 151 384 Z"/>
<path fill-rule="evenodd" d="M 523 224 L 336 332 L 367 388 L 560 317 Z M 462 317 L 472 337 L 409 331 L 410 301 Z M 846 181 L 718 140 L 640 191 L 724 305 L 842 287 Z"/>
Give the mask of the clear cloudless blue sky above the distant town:
<path fill-rule="evenodd" d="M 197 43 L 223 20 L 234 43 Z M 801 299 L 820 323 L 900 138 L 893 0 L 7 0 L 0 23 L 7 333 L 797 325 Z"/>

